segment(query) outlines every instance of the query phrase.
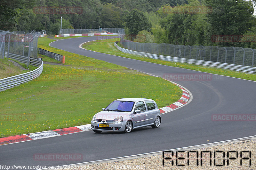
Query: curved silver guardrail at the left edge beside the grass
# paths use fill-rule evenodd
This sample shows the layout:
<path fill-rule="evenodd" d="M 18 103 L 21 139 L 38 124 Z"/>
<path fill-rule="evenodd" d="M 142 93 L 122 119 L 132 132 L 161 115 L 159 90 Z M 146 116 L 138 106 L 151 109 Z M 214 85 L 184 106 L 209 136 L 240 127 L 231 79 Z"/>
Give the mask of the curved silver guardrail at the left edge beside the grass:
<path fill-rule="evenodd" d="M 43 65 L 44 65 L 44 62 L 42 61 L 41 65 L 33 71 L 1 79 L 0 91 L 11 89 L 15 86 L 19 86 L 22 83 L 26 83 L 28 81 L 35 79 L 42 73 Z"/>

